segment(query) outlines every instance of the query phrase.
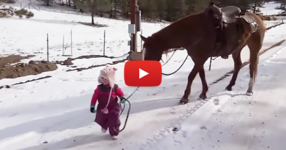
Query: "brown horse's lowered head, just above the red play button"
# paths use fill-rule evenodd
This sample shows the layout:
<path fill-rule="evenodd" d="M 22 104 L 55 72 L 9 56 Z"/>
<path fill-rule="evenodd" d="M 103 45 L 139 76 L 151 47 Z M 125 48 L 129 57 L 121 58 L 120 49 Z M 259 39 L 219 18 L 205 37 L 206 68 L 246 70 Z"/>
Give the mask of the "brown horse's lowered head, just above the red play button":
<path fill-rule="evenodd" d="M 156 60 L 160 61 L 162 58 L 163 50 L 161 47 L 154 42 L 154 37 L 144 37 L 140 35 L 141 39 L 144 41 L 143 44 L 143 60 Z"/>

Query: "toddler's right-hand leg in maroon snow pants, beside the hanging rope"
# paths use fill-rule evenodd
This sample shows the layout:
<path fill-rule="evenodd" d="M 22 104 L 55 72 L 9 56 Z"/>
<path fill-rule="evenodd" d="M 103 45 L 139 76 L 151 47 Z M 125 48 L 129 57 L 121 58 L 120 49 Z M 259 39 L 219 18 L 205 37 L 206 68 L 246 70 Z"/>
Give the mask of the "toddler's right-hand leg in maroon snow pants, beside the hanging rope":
<path fill-rule="evenodd" d="M 109 134 L 111 136 L 117 136 L 119 134 L 120 127 L 119 112 L 111 112 L 108 118 Z"/>

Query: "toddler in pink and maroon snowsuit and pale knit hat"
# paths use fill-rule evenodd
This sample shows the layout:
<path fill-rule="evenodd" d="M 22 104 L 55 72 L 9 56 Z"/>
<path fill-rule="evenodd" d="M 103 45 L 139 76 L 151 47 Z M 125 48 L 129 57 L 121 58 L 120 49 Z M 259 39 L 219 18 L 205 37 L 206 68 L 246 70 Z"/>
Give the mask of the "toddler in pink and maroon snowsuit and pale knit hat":
<path fill-rule="evenodd" d="M 120 120 L 119 114 L 121 106 L 118 103 L 117 96 L 121 103 L 125 102 L 124 93 L 118 87 L 115 81 L 115 71 L 117 69 L 107 66 L 100 71 L 98 82 L 100 85 L 94 91 L 91 99 L 90 112 L 94 113 L 95 103 L 98 101 L 96 109 L 95 122 L 101 126 L 103 133 L 109 129 L 109 134 L 116 139 L 119 134 Z"/>

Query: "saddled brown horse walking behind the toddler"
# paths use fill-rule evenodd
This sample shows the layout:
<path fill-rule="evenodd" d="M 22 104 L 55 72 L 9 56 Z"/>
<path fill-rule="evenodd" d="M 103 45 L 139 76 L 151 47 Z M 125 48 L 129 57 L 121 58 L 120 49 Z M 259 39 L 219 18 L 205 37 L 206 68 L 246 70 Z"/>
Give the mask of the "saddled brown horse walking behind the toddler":
<path fill-rule="evenodd" d="M 250 50 L 250 81 L 247 95 L 252 95 L 257 74 L 258 53 L 262 47 L 265 31 L 263 20 L 254 13 L 241 13 L 235 6 L 219 8 L 211 3 L 201 13 L 179 19 L 147 38 L 141 36 L 144 41 L 143 57 L 144 60 L 160 61 L 165 52 L 176 48 L 187 50 L 195 64 L 180 100 L 181 103 L 187 103 L 191 84 L 197 73 L 200 75 L 203 86 L 199 97 L 207 98 L 208 85 L 203 66 L 209 57 L 232 55 L 234 73 L 226 87 L 231 91 L 242 66 L 241 50 L 247 45 Z"/>

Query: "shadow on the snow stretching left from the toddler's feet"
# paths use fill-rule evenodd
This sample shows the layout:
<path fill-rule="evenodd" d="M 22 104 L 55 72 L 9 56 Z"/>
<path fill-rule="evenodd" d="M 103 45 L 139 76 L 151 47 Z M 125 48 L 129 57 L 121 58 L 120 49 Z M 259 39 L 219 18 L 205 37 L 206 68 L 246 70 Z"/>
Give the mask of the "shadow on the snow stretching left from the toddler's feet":
<path fill-rule="evenodd" d="M 23 148 L 20 150 L 40 150 L 40 149 L 67 149 L 67 148 L 73 148 L 80 145 L 86 145 L 90 143 L 100 143 L 103 141 L 110 141 L 111 137 L 109 134 L 98 134 L 98 133 L 92 133 L 92 134 L 85 134 L 85 135 L 79 135 L 74 136 L 71 138 L 63 139 L 61 141 L 55 141 L 55 142 L 49 142 L 42 143 L 40 145 L 31 146 L 27 148 Z"/>

